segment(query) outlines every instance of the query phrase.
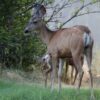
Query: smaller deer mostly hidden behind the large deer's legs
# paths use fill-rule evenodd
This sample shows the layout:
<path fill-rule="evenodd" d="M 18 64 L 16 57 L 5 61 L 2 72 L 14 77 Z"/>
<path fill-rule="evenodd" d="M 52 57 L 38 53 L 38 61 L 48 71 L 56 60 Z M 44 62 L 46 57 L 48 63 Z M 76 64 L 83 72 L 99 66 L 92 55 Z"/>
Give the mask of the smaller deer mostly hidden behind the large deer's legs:
<path fill-rule="evenodd" d="M 51 73 L 51 71 L 52 71 L 52 66 L 51 66 L 50 60 L 51 60 L 51 57 L 50 57 L 49 54 L 46 54 L 42 57 L 42 70 L 44 71 L 44 74 L 45 74 L 45 87 L 47 87 L 48 74 Z M 66 58 L 66 66 L 65 66 L 65 74 L 66 75 L 67 75 L 67 72 L 68 72 L 69 65 L 72 66 L 71 84 L 74 85 L 78 72 L 77 72 L 76 67 L 74 66 L 74 62 L 73 62 L 72 58 Z M 57 68 L 59 68 L 59 62 L 57 64 Z M 74 77 L 74 81 L 72 81 L 74 69 L 75 69 L 75 77 Z"/>

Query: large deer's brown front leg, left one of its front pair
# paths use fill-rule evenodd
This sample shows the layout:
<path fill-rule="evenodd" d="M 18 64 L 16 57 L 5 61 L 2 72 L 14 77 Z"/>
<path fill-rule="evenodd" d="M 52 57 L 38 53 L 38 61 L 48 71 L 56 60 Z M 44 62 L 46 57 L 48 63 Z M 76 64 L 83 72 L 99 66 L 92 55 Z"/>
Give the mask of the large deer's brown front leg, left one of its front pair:
<path fill-rule="evenodd" d="M 52 71 L 51 71 L 51 91 L 54 90 L 54 81 L 56 78 L 57 57 L 52 57 Z"/>

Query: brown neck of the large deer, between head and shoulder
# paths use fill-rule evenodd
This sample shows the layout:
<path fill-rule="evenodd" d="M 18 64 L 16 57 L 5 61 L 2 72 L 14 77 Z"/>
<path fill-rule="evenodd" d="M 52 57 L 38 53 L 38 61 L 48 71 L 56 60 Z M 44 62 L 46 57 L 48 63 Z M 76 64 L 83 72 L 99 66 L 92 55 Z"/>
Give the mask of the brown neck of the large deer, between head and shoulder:
<path fill-rule="evenodd" d="M 52 36 L 54 35 L 54 31 L 51 31 L 46 25 L 45 23 L 42 24 L 41 28 L 40 28 L 40 38 L 42 39 L 42 41 L 48 45 Z"/>

